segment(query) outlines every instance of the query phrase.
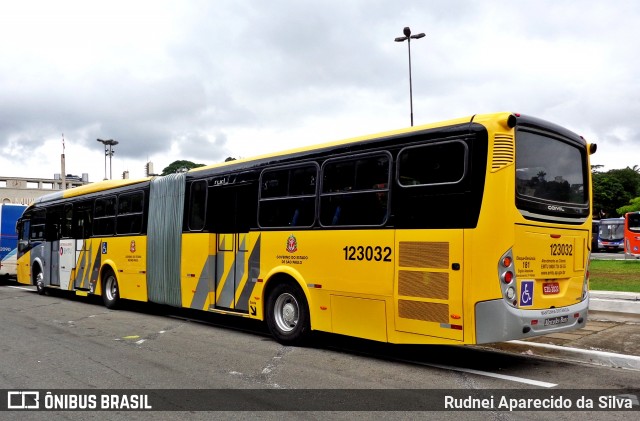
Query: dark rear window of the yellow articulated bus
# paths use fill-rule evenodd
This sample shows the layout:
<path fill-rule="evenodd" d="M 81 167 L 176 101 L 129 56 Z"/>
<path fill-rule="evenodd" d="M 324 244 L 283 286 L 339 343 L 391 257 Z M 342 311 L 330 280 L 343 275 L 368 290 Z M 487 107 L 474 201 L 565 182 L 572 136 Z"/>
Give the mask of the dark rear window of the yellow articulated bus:
<path fill-rule="evenodd" d="M 557 139 L 520 130 L 516 139 L 516 191 L 563 204 L 588 202 L 580 150 Z"/>

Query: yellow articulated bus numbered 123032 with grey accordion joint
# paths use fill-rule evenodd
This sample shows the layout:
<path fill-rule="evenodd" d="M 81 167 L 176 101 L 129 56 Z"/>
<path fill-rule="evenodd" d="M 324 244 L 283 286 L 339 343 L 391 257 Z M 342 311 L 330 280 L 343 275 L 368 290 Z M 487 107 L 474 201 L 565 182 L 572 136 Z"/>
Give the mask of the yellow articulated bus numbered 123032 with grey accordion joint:
<path fill-rule="evenodd" d="M 479 344 L 587 320 L 595 144 L 476 115 L 55 192 L 18 280 L 382 342 Z"/>

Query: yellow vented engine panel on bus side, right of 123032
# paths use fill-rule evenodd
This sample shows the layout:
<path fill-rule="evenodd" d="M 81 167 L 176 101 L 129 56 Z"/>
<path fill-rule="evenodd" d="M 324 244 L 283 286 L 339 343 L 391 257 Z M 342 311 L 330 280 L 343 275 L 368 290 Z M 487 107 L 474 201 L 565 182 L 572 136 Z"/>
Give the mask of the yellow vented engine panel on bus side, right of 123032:
<path fill-rule="evenodd" d="M 398 230 L 396 255 L 396 330 L 462 341 L 463 230 Z"/>

